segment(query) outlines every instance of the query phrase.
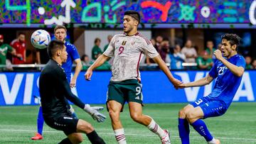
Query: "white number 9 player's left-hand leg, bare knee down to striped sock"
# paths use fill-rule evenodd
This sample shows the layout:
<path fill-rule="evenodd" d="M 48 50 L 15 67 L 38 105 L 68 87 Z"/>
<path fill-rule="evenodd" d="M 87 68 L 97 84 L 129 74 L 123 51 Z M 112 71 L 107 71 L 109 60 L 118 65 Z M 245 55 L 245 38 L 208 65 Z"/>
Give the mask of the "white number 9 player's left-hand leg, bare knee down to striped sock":
<path fill-rule="evenodd" d="M 122 111 L 122 104 L 117 101 L 110 100 L 107 101 L 107 109 L 110 114 L 112 128 L 114 131 L 114 136 L 117 140 L 117 143 L 126 144 L 126 139 L 124 135 L 124 128 L 120 121 L 120 111 Z"/>

